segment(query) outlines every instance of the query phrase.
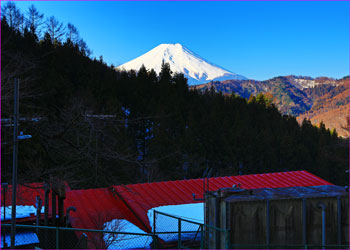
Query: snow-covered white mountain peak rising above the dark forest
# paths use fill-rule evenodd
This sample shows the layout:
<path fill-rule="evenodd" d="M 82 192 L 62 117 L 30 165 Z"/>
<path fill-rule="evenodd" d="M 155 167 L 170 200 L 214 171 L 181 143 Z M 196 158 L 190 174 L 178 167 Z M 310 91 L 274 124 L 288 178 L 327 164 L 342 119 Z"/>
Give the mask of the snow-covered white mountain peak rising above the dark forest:
<path fill-rule="evenodd" d="M 154 69 L 159 74 L 163 61 L 169 63 L 171 71 L 183 73 L 188 79 L 189 85 L 203 84 L 209 81 L 247 79 L 208 62 L 179 43 L 160 44 L 134 60 L 118 66 L 117 69 L 137 71 L 143 64 L 146 69 Z"/>

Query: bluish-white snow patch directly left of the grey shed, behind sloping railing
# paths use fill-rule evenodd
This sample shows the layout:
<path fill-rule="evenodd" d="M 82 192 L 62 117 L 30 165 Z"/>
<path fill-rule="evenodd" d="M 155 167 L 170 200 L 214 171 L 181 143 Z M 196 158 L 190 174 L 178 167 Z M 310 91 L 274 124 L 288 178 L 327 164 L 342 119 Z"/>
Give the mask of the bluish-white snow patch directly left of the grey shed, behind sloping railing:
<path fill-rule="evenodd" d="M 191 204 L 182 204 L 182 205 L 169 205 L 169 206 L 160 206 L 154 207 L 148 210 L 147 215 L 152 227 L 153 225 L 153 216 L 154 210 L 162 213 L 166 213 L 175 217 L 180 217 L 181 219 L 193 221 L 196 223 L 204 223 L 204 203 L 191 203 Z M 159 232 L 177 232 L 178 231 L 178 219 L 172 218 L 166 215 L 157 214 L 156 233 Z M 169 234 L 159 234 L 159 238 L 164 241 L 176 241 L 178 240 L 177 233 Z M 181 222 L 181 239 L 182 240 L 200 240 L 200 226 L 195 223 L 190 223 L 187 221 Z"/>

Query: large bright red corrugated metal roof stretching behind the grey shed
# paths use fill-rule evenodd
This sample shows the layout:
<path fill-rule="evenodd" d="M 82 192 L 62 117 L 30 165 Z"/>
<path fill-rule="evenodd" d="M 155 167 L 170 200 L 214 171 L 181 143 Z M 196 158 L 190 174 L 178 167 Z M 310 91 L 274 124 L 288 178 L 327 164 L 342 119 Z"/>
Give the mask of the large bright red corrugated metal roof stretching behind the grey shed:
<path fill-rule="evenodd" d="M 232 187 L 238 183 L 245 189 L 333 185 L 307 171 L 291 171 L 209 178 L 209 190 Z M 113 188 L 147 226 L 147 231 L 151 230 L 147 217 L 149 209 L 199 202 L 193 200 L 193 193 L 196 198 L 203 198 L 203 179 L 119 185 Z"/>

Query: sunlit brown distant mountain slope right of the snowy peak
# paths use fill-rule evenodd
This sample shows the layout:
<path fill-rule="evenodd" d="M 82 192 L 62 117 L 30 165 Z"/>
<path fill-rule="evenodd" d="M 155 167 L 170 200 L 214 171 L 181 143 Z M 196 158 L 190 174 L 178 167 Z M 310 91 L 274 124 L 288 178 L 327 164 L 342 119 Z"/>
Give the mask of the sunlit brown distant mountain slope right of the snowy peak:
<path fill-rule="evenodd" d="M 295 115 L 300 122 L 304 118 L 311 119 L 313 124 L 323 121 L 327 128 L 335 128 L 339 135 L 347 135 L 341 126 L 349 113 L 349 77 L 335 80 L 291 75 L 266 81 L 213 81 L 191 88 L 201 91 L 213 88 L 223 94 L 235 93 L 245 98 L 269 93 L 282 113 Z"/>

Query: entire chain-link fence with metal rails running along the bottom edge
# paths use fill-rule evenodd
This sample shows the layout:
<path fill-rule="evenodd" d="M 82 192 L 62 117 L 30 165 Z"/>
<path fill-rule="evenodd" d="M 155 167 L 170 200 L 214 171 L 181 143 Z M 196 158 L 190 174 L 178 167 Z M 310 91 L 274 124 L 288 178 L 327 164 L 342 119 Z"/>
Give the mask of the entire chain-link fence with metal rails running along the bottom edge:
<path fill-rule="evenodd" d="M 10 224 L 1 225 L 1 248 L 20 249 L 349 249 L 349 245 L 230 244 L 229 232 L 210 225 L 155 212 L 152 233 L 16 225 L 11 247 Z"/>

